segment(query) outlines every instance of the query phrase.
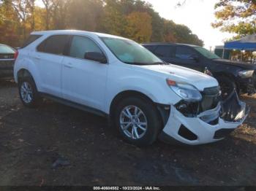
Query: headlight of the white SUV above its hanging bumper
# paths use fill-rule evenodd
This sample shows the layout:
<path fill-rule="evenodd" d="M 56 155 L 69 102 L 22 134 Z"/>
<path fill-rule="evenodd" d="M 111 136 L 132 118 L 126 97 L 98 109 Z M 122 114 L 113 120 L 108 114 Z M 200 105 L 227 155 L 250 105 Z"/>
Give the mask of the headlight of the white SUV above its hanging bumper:
<path fill-rule="evenodd" d="M 187 83 L 174 82 L 167 79 L 167 85 L 173 90 L 178 96 L 180 96 L 184 101 L 197 102 L 202 100 L 202 95 L 193 85 Z"/>

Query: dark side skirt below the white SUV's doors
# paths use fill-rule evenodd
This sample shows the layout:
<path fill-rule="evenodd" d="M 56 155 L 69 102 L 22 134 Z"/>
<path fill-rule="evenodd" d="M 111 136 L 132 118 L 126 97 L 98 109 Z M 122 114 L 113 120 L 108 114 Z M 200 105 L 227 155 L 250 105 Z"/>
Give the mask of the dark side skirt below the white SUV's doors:
<path fill-rule="evenodd" d="M 89 106 L 84 106 L 84 105 L 81 105 L 81 104 L 77 104 L 75 102 L 68 101 L 64 98 L 59 98 L 59 97 L 56 97 L 54 95 L 49 95 L 48 93 L 39 93 L 39 94 L 44 98 L 48 98 L 48 99 L 50 99 L 52 101 L 56 101 L 60 104 L 64 104 L 66 106 L 70 106 L 70 107 L 74 107 L 76 109 L 83 110 L 84 112 L 97 114 L 97 115 L 102 116 L 102 117 L 107 117 L 107 118 L 109 117 L 108 114 L 106 114 L 105 112 L 100 111 L 99 109 L 94 109 L 94 108 L 91 108 Z"/>

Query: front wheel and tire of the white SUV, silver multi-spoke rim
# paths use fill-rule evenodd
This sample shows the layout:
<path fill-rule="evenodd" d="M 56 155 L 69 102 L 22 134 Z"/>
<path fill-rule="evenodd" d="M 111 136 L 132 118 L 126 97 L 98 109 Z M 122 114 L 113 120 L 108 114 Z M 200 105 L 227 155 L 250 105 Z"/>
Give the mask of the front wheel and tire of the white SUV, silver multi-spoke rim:
<path fill-rule="evenodd" d="M 150 101 L 145 98 L 125 98 L 115 110 L 114 125 L 125 141 L 139 147 L 156 141 L 162 122 L 157 108 Z M 135 112 L 138 117 L 135 117 Z"/>

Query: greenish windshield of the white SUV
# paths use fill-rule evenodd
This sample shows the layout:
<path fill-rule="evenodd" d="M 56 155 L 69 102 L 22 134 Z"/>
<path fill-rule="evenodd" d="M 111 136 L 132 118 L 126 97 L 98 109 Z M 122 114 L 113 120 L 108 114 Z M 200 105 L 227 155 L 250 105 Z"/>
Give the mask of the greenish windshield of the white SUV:
<path fill-rule="evenodd" d="M 113 52 L 113 54 L 124 63 L 136 65 L 153 65 L 162 63 L 157 56 L 132 40 L 110 37 L 102 37 L 101 39 L 111 52 Z"/>

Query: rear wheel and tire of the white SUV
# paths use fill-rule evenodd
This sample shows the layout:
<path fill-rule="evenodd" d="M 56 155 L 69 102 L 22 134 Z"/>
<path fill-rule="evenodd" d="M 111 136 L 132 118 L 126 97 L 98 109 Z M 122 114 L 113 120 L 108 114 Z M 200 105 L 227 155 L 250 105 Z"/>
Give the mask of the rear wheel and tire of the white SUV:
<path fill-rule="evenodd" d="M 20 100 L 23 105 L 29 108 L 36 108 L 42 101 L 34 79 L 32 77 L 22 77 L 18 82 Z"/>

